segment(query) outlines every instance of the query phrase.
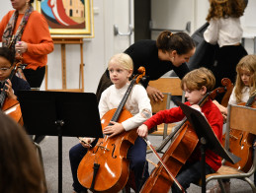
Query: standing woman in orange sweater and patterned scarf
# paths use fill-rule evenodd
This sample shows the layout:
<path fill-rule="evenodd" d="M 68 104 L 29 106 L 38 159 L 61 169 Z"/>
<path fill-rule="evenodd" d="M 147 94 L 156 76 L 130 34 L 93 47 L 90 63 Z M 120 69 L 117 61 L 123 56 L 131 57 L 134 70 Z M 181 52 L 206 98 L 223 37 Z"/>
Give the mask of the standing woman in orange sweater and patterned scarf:
<path fill-rule="evenodd" d="M 34 0 L 11 0 L 15 10 L 0 23 L 0 41 L 23 56 L 25 78 L 31 88 L 40 88 L 45 74 L 47 54 L 53 50 L 48 25 L 43 15 L 34 11 Z"/>

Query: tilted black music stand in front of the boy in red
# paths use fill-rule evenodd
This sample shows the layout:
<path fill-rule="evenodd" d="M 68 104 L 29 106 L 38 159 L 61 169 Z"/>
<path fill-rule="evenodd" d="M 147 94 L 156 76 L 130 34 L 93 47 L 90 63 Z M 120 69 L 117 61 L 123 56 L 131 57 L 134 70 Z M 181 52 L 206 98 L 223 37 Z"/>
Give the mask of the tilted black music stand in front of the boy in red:
<path fill-rule="evenodd" d="M 206 117 L 198 110 L 183 104 L 177 101 L 181 109 L 183 110 L 184 114 L 186 115 L 189 122 L 192 124 L 194 130 L 196 131 L 198 138 L 201 143 L 201 165 L 202 165 L 202 192 L 206 192 L 206 150 L 210 149 L 226 161 L 230 161 L 232 163 L 236 163 L 241 159 L 236 157 L 235 155 L 227 152 L 221 144 L 219 143 L 218 139 L 216 138 L 215 134 L 213 133 L 213 129 L 210 126 Z"/>

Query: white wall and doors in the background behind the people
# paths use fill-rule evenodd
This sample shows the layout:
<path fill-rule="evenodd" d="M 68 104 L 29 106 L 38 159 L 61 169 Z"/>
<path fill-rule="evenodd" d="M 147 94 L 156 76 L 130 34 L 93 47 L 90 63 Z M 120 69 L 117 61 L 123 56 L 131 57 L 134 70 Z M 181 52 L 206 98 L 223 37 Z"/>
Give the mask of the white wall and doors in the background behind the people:
<path fill-rule="evenodd" d="M 117 0 L 118 1 L 118 0 Z M 84 86 L 85 92 L 95 93 L 98 82 L 101 75 L 106 70 L 106 64 L 109 58 L 114 53 L 117 45 L 117 41 L 123 41 L 124 37 L 114 37 L 113 17 L 117 10 L 117 4 L 115 0 L 93 0 L 93 7 L 95 9 L 94 14 L 94 31 L 95 37 L 92 39 L 84 40 Z M 166 2 L 168 9 L 165 6 L 162 9 L 166 9 L 162 13 L 168 17 L 162 17 L 159 13 L 156 14 L 161 17 L 162 24 L 164 26 L 153 23 L 155 27 L 172 29 L 185 28 L 182 21 L 192 21 L 192 32 L 195 32 L 206 22 L 206 16 L 209 9 L 209 1 L 207 0 L 152 0 L 154 6 L 160 5 Z M 170 2 L 172 2 L 170 4 Z M 180 2 L 180 3 L 179 3 Z M 191 3 L 193 2 L 193 3 Z M 121 1 L 118 1 L 122 4 Z M 127 1 L 124 1 L 124 7 L 127 7 Z M 190 6 L 188 6 L 190 5 Z M 120 5 L 119 5 L 120 6 Z M 118 7 L 119 7 L 118 6 Z M 186 9 L 188 11 L 186 11 Z M 0 19 L 12 9 L 10 1 L 2 1 L 0 6 Z M 242 17 L 242 24 L 244 28 L 249 28 L 251 34 L 256 34 L 254 31 L 256 27 L 256 1 L 249 0 L 248 7 L 245 10 L 245 16 Z M 127 21 L 128 13 L 122 13 L 119 19 L 114 21 Z M 155 13 L 153 13 L 155 14 Z M 165 19 L 165 21 L 163 21 Z M 171 25 L 170 25 L 171 24 Z M 252 29 L 252 30 L 251 30 Z M 127 32 L 127 29 L 122 29 L 123 32 Z M 116 42 L 114 42 L 116 41 Z M 246 38 L 245 46 L 249 53 L 253 53 L 253 41 L 251 38 Z M 79 64 L 80 64 L 80 50 L 79 45 L 66 45 L 66 63 L 67 63 L 67 89 L 78 89 L 79 79 Z M 48 55 L 48 89 L 61 89 L 61 58 L 60 58 L 60 45 L 55 45 L 54 51 Z M 44 90 L 44 83 L 41 88 Z"/>

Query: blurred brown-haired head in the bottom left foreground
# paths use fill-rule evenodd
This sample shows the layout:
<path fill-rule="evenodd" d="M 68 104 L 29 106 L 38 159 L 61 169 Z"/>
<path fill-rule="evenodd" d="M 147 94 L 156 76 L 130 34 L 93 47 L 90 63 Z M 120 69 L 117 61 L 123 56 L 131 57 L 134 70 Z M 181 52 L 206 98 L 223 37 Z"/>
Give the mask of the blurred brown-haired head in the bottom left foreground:
<path fill-rule="evenodd" d="M 0 112 L 0 192 L 43 193 L 43 168 L 25 130 Z"/>

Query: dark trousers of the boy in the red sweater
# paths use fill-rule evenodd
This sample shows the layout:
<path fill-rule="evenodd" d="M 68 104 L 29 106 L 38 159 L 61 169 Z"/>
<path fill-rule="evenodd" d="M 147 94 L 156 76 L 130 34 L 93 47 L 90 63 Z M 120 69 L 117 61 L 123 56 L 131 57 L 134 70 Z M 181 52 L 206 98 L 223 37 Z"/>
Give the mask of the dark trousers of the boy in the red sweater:
<path fill-rule="evenodd" d="M 199 182 L 199 180 L 201 179 L 201 171 L 202 167 L 200 161 L 196 161 L 194 163 L 187 162 L 176 176 L 176 179 L 184 188 L 184 190 L 187 190 L 190 187 L 191 183 L 197 184 Z M 206 163 L 206 175 L 213 172 L 213 168 L 208 163 Z M 173 183 L 172 193 L 180 192 L 181 191 L 178 186 Z"/>

